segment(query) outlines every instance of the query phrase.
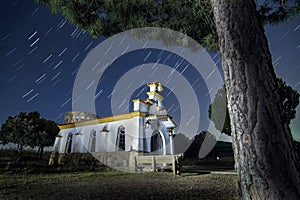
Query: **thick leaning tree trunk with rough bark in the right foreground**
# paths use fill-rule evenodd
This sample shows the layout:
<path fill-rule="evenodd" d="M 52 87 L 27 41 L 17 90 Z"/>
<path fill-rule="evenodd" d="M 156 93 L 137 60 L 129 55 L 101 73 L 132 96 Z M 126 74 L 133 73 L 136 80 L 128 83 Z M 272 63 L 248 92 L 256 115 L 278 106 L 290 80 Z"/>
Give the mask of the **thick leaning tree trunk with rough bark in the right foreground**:
<path fill-rule="evenodd" d="M 284 122 L 253 0 L 211 0 L 219 36 L 241 199 L 300 199 L 300 168 Z"/>

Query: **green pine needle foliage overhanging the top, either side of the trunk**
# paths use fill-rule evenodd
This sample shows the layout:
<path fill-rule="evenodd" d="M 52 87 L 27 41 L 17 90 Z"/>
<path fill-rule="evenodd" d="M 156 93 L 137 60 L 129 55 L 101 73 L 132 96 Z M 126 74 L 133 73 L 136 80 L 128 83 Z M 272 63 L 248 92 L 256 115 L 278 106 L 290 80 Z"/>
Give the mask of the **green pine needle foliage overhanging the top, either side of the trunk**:
<path fill-rule="evenodd" d="M 141 27 L 164 27 L 184 33 L 210 50 L 218 38 L 208 0 L 36 0 L 93 38 Z M 262 23 L 277 23 L 299 12 L 297 0 L 257 0 Z"/>

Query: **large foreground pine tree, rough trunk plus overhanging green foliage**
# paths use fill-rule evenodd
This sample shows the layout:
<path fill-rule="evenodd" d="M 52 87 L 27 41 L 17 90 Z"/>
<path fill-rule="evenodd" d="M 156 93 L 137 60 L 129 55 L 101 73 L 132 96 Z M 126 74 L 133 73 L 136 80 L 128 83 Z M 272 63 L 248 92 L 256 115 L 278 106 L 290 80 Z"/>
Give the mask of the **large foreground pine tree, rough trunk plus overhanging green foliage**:
<path fill-rule="evenodd" d="M 38 0 L 92 36 L 157 26 L 218 49 L 242 199 L 300 199 L 300 167 L 284 119 L 263 24 L 299 13 L 298 0 Z"/>

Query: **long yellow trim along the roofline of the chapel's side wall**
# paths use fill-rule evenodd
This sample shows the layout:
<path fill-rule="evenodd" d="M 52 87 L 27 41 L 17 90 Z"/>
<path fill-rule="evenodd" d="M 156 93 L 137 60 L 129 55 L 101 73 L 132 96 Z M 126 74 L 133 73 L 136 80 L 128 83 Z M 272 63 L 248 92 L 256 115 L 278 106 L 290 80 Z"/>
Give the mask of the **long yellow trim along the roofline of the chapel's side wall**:
<path fill-rule="evenodd" d="M 78 123 L 60 124 L 60 125 L 58 125 L 58 127 L 60 130 L 62 130 L 62 129 L 69 129 L 69 128 L 75 128 L 75 127 L 80 127 L 80 126 L 88 126 L 88 125 L 93 125 L 93 124 L 102 124 L 102 123 L 120 121 L 120 120 L 125 120 L 125 119 L 131 119 L 134 117 L 145 117 L 145 116 L 146 116 L 145 113 L 136 111 L 136 112 L 131 112 L 128 114 L 109 116 L 109 117 L 98 118 L 98 119 L 93 119 L 93 120 L 83 121 L 83 122 L 78 122 Z"/>

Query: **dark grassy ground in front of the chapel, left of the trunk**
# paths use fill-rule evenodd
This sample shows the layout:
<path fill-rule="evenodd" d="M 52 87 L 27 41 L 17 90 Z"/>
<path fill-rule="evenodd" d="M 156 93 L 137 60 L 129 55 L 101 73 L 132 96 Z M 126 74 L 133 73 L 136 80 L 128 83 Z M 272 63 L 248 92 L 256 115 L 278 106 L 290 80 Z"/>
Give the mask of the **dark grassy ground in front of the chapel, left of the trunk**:
<path fill-rule="evenodd" d="M 5 155 L 5 156 L 3 156 Z M 0 199 L 236 199 L 232 174 L 125 173 L 51 168 L 27 156 L 0 153 Z M 68 170 L 67 170 L 68 169 Z"/>

